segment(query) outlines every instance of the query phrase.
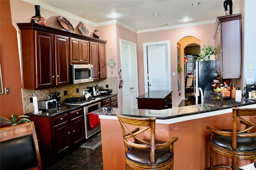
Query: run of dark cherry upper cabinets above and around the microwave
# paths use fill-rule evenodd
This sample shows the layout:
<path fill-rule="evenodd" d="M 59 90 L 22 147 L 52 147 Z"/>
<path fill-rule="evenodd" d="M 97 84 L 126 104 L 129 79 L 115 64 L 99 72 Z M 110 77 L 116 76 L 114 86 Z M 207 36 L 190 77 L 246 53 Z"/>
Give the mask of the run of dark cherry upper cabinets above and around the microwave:
<path fill-rule="evenodd" d="M 103 62 L 106 62 L 107 41 L 36 23 L 17 25 L 21 37 L 23 88 L 37 90 L 69 84 L 70 63 L 94 64 L 95 80 L 106 78 Z"/>

